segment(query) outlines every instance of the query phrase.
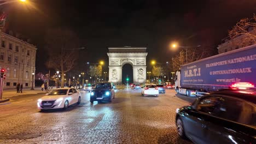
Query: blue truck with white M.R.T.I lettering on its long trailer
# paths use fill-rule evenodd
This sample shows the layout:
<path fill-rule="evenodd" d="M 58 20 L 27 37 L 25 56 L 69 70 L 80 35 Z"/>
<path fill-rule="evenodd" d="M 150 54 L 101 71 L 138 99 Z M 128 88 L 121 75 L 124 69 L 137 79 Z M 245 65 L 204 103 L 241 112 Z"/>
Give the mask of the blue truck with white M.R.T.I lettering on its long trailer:
<path fill-rule="evenodd" d="M 224 88 L 254 87 L 256 45 L 221 53 L 181 66 L 175 89 L 187 96 L 202 96 Z"/>

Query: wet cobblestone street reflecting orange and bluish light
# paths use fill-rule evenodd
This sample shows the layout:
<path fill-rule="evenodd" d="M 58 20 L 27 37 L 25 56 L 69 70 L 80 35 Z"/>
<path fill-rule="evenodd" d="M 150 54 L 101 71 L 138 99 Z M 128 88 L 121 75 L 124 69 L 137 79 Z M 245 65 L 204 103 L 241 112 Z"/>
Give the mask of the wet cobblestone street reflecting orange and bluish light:
<path fill-rule="evenodd" d="M 142 97 L 140 90 L 119 89 L 112 103 L 82 103 L 68 110 L 40 112 L 43 94 L 24 95 L 0 105 L 0 143 L 191 143 L 178 137 L 174 122 L 187 101 L 173 89 L 159 97 Z"/>

